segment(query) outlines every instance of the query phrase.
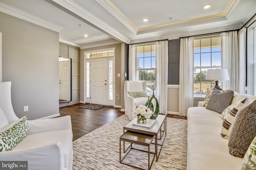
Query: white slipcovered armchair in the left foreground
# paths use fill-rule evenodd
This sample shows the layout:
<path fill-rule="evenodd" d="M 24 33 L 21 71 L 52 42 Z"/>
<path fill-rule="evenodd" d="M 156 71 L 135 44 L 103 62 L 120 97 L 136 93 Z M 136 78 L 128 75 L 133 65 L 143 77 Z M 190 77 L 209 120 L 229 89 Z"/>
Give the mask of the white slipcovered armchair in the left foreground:
<path fill-rule="evenodd" d="M 0 133 L 17 121 L 11 102 L 11 82 L 1 82 Z M 28 121 L 28 128 L 28 135 L 18 145 L 0 152 L 1 161 L 28 161 L 29 170 L 72 170 L 70 116 Z"/>

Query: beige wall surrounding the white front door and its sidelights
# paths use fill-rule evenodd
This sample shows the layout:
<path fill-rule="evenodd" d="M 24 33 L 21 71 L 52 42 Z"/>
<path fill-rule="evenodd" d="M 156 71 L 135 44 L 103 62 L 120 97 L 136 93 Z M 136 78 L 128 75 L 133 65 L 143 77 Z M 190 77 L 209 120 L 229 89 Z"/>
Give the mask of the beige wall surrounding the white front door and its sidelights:
<path fill-rule="evenodd" d="M 80 101 L 84 102 L 84 52 L 85 51 L 93 51 L 93 50 L 100 50 L 100 49 L 108 49 L 108 48 L 115 48 L 115 106 L 121 107 L 122 105 L 122 76 L 121 74 L 121 43 L 114 44 L 114 45 L 105 45 L 101 47 L 94 47 L 94 48 L 88 48 L 88 49 L 80 49 Z M 121 76 L 118 77 L 117 74 L 120 73 Z M 120 99 L 117 99 L 116 96 L 119 95 Z"/>

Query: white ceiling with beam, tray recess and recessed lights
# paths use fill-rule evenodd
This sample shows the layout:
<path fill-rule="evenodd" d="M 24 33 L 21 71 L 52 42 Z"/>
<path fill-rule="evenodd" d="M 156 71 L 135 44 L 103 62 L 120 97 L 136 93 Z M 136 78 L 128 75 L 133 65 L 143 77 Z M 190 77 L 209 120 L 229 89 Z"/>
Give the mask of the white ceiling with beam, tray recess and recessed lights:
<path fill-rule="evenodd" d="M 0 0 L 0 11 L 89 48 L 238 29 L 256 14 L 256 0 Z"/>

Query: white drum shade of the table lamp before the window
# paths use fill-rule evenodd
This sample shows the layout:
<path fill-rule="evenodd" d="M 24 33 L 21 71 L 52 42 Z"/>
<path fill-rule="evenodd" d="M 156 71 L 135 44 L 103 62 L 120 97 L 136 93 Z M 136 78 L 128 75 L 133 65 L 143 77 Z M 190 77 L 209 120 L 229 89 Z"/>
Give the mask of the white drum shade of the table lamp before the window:
<path fill-rule="evenodd" d="M 229 80 L 227 69 L 210 69 L 207 70 L 205 80 Z"/>

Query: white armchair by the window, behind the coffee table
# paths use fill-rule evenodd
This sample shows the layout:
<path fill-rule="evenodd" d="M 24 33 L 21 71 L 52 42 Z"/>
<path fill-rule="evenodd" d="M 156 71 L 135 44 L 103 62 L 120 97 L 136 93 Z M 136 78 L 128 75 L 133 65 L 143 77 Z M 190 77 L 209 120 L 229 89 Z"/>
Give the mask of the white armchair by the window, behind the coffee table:
<path fill-rule="evenodd" d="M 135 116 L 132 114 L 132 108 L 138 105 L 145 105 L 148 101 L 148 97 L 133 98 L 128 92 L 146 92 L 147 93 L 147 81 L 132 81 L 126 80 L 124 82 L 124 102 L 125 102 L 125 114 L 132 120 Z"/>

